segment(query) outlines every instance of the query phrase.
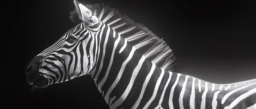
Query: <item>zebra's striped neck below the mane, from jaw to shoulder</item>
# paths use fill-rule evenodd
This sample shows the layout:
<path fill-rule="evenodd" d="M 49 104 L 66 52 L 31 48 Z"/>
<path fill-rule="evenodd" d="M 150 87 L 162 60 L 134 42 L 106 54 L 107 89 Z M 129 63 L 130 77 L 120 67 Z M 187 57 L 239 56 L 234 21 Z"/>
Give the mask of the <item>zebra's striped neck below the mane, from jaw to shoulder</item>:
<path fill-rule="evenodd" d="M 97 44 L 97 61 L 91 75 L 111 108 L 121 104 L 129 107 L 129 102 L 144 99 L 153 101 L 162 94 L 171 72 L 146 59 L 108 25 L 99 30 Z M 145 94 L 154 96 L 145 98 Z"/>

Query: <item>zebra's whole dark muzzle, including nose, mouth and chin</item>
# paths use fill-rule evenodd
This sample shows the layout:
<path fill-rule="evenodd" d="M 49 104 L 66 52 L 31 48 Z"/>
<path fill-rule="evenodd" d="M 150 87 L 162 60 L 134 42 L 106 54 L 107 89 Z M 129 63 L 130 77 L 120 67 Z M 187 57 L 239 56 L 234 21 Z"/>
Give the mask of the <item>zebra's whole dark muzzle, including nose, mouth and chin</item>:
<path fill-rule="evenodd" d="M 27 66 L 27 82 L 33 87 L 44 88 L 48 86 L 48 79 L 38 71 L 42 56 L 34 57 Z"/>

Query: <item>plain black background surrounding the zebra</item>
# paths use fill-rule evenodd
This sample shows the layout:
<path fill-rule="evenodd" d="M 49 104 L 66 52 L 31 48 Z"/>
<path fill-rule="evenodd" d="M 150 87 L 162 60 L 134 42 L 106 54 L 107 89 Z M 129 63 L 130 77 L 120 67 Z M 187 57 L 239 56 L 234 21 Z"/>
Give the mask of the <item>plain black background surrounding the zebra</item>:
<path fill-rule="evenodd" d="M 144 24 L 173 49 L 175 72 L 213 83 L 256 78 L 254 1 L 84 0 Z M 73 9 L 72 0 L 1 0 L 1 107 L 107 108 L 88 75 L 44 89 L 27 83 L 29 61 L 76 25 Z"/>

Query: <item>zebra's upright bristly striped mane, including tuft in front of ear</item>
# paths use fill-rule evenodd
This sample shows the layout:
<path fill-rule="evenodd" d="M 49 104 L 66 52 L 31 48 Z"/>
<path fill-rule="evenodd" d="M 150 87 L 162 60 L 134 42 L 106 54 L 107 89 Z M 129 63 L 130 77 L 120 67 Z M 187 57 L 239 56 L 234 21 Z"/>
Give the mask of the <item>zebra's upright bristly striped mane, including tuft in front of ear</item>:
<path fill-rule="evenodd" d="M 84 4 L 84 6 L 90 9 L 99 20 L 115 29 L 152 63 L 164 70 L 172 71 L 175 56 L 163 39 L 157 37 L 142 24 L 130 20 L 128 16 L 121 14 L 115 8 L 110 8 L 104 4 Z M 72 22 L 83 22 L 79 18 L 78 12 L 76 8 L 70 12 Z"/>

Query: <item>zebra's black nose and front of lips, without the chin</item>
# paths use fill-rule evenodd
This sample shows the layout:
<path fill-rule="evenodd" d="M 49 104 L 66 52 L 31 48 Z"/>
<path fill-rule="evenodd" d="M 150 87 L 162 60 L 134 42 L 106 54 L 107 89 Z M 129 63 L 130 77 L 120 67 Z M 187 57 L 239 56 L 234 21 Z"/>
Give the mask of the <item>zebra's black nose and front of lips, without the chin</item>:
<path fill-rule="evenodd" d="M 39 78 L 43 77 L 43 76 L 39 75 L 39 72 L 38 72 L 38 67 L 40 65 L 40 60 L 41 59 L 43 59 L 42 56 L 36 56 L 27 65 L 27 70 L 26 70 L 26 72 L 27 72 L 27 82 L 29 84 L 33 84 Z"/>

